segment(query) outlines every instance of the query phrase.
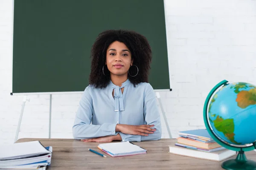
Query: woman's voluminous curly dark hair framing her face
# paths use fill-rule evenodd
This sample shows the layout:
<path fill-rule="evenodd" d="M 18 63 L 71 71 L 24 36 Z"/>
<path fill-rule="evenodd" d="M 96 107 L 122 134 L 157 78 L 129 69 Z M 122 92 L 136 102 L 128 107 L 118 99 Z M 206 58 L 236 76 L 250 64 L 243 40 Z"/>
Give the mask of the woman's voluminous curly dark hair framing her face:
<path fill-rule="evenodd" d="M 136 65 L 139 69 L 135 77 L 131 77 L 128 74 L 128 79 L 133 83 L 134 87 L 140 82 L 148 82 L 152 59 L 152 51 L 148 40 L 135 31 L 107 30 L 99 34 L 92 46 L 89 84 L 94 85 L 96 88 L 105 88 L 109 84 L 109 71 L 108 74 L 106 73 L 107 71 L 104 72 L 105 76 L 102 68 L 106 62 L 107 49 L 114 41 L 123 42 L 128 47 L 131 51 L 133 65 Z"/>

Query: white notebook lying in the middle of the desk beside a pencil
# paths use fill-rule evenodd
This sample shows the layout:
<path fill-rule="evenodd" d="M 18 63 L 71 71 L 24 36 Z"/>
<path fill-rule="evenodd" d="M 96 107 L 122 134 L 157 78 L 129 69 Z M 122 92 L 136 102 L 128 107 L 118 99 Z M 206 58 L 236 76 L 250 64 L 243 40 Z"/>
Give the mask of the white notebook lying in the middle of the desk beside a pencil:
<path fill-rule="evenodd" d="M 112 157 L 145 154 L 147 150 L 131 142 L 99 144 L 98 148 Z"/>

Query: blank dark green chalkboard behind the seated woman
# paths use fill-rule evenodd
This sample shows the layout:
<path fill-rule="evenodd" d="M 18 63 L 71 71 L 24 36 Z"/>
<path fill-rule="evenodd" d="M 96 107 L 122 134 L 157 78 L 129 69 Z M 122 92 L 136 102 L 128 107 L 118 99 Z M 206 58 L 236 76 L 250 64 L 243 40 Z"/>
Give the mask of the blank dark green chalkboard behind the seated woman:
<path fill-rule="evenodd" d="M 15 0 L 12 93 L 84 91 L 91 46 L 107 29 L 143 34 L 149 83 L 170 89 L 163 0 Z"/>

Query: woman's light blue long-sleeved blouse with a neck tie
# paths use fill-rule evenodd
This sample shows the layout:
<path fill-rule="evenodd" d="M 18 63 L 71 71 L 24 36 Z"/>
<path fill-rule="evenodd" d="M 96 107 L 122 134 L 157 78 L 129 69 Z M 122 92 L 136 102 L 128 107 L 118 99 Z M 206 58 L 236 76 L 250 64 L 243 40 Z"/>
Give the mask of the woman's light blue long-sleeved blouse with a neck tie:
<path fill-rule="evenodd" d="M 123 94 L 121 88 L 124 88 Z M 114 90 L 114 97 L 112 92 Z M 116 132 L 117 124 L 154 125 L 156 131 L 148 136 Z M 106 88 L 85 88 L 73 125 L 74 139 L 88 139 L 120 134 L 122 141 L 158 140 L 162 129 L 157 101 L 149 83 L 134 85 L 127 79 L 122 86 L 112 82 Z"/>

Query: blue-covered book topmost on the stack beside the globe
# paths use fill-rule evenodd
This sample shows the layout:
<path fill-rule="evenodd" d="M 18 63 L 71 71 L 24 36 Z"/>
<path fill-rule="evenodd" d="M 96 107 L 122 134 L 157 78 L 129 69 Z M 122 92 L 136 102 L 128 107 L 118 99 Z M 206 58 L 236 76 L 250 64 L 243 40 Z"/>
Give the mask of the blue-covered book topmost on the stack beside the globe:
<path fill-rule="evenodd" d="M 197 139 L 203 139 L 207 141 L 213 141 L 212 137 L 208 133 L 207 129 L 185 130 L 178 132 L 178 135 L 182 137 L 194 137 Z"/>

